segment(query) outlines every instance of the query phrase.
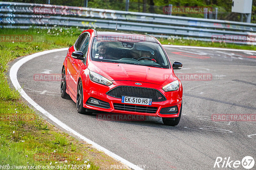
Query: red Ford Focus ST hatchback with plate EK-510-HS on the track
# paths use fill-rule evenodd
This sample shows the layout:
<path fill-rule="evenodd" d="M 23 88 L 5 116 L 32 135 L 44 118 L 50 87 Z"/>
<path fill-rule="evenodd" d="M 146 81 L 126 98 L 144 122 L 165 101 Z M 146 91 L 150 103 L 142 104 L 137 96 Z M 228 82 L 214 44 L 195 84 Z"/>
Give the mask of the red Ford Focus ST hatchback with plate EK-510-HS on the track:
<path fill-rule="evenodd" d="M 68 49 L 62 67 L 61 97 L 79 113 L 104 111 L 162 117 L 180 122 L 182 85 L 160 42 L 149 35 L 115 30 L 84 30 Z"/>

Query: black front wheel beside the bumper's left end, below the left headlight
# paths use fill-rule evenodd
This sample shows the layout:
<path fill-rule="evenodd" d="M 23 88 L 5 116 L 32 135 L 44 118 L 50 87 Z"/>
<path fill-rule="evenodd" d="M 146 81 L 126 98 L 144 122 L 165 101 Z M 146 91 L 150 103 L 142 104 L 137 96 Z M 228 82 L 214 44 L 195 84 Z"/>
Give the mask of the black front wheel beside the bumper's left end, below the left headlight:
<path fill-rule="evenodd" d="M 83 84 L 80 80 L 77 86 L 77 94 L 76 94 L 76 109 L 78 113 L 92 115 L 92 112 L 88 111 L 89 109 L 84 108 L 83 106 Z"/>

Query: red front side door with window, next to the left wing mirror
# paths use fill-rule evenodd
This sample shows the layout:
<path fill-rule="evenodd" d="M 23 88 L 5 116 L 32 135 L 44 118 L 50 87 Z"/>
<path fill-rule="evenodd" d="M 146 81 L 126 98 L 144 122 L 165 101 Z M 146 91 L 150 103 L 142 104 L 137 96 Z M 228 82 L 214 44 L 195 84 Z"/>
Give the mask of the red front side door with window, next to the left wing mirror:
<path fill-rule="evenodd" d="M 77 49 L 80 48 L 82 43 L 84 42 L 85 37 L 87 36 L 87 33 L 81 34 L 78 39 L 76 40 L 74 44 L 74 51 L 78 51 Z M 76 97 L 76 77 L 77 77 L 77 67 L 74 66 L 77 59 L 74 59 L 73 57 L 68 56 L 67 60 L 67 85 L 68 89 L 71 92 L 71 94 Z"/>

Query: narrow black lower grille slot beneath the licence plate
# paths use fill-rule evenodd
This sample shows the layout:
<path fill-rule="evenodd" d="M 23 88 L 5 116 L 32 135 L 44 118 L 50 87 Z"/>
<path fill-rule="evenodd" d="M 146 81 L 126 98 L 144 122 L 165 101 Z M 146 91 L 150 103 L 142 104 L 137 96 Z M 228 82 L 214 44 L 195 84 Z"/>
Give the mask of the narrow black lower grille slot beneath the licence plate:
<path fill-rule="evenodd" d="M 124 111 L 133 111 L 139 113 L 156 113 L 157 107 L 150 107 L 150 106 L 138 106 L 138 105 L 131 105 L 131 104 L 120 104 L 114 103 L 115 110 L 124 110 Z"/>

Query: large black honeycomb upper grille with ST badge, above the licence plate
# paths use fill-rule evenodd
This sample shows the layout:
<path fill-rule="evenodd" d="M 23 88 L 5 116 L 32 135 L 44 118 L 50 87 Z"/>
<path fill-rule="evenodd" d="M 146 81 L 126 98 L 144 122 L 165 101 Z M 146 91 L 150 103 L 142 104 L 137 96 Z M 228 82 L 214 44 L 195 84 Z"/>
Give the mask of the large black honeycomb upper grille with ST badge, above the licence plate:
<path fill-rule="evenodd" d="M 166 100 L 160 91 L 143 87 L 117 86 L 114 89 L 109 90 L 106 94 L 119 99 L 121 99 L 122 96 L 128 96 L 149 98 L 152 99 L 152 102 L 162 102 Z"/>

